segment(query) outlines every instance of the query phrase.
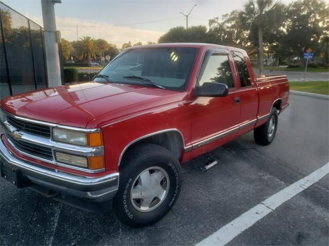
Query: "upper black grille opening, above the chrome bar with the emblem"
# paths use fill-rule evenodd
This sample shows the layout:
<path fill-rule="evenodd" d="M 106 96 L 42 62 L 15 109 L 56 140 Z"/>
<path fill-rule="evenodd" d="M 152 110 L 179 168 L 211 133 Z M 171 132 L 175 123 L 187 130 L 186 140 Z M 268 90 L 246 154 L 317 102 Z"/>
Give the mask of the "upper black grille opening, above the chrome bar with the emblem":
<path fill-rule="evenodd" d="M 16 119 L 7 114 L 8 123 L 19 131 L 50 138 L 50 127 Z"/>

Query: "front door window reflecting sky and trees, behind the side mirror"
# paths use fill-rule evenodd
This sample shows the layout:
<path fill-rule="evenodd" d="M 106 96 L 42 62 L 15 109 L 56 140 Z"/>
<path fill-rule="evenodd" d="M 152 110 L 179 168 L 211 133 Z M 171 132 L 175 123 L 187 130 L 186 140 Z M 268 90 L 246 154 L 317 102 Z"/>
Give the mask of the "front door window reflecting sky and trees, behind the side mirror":
<path fill-rule="evenodd" d="M 205 82 L 215 82 L 234 88 L 233 75 L 228 56 L 226 54 L 212 54 L 209 56 L 203 72 L 199 76 L 199 86 Z"/>

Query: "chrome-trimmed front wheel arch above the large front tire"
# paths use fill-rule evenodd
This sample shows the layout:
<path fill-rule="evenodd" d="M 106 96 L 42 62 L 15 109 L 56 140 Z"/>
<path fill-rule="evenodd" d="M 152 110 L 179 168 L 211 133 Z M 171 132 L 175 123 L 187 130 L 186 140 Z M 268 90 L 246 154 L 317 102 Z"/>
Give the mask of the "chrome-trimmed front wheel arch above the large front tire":
<path fill-rule="evenodd" d="M 181 160 L 182 152 L 184 152 L 185 149 L 184 136 L 178 129 L 173 128 L 149 133 L 136 138 L 124 147 L 118 160 L 118 167 L 120 167 L 121 162 L 124 160 L 124 156 L 129 150 L 133 146 L 142 143 L 152 143 L 162 146 L 171 151 L 179 161 Z"/>

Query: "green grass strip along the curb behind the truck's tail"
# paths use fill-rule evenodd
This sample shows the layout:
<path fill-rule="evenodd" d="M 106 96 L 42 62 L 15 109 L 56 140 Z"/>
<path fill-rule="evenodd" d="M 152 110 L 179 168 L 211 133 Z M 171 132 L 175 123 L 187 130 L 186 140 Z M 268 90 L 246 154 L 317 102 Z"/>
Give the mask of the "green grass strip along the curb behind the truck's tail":
<path fill-rule="evenodd" d="M 289 82 L 290 90 L 329 95 L 329 81 Z"/>

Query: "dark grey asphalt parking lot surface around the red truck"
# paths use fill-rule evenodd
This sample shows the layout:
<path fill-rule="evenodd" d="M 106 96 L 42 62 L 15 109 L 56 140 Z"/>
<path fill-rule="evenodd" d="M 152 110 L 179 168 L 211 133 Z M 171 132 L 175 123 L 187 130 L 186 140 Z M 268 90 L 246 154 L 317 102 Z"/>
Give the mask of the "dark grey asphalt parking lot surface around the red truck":
<path fill-rule="evenodd" d="M 142 229 L 111 213 L 93 214 L 0 181 L 1 245 L 193 245 L 264 199 L 329 161 L 329 101 L 290 95 L 276 139 L 258 146 L 252 132 L 211 153 L 206 173 L 182 165 L 182 190 L 171 212 Z M 328 245 L 329 177 L 289 199 L 228 245 Z"/>

